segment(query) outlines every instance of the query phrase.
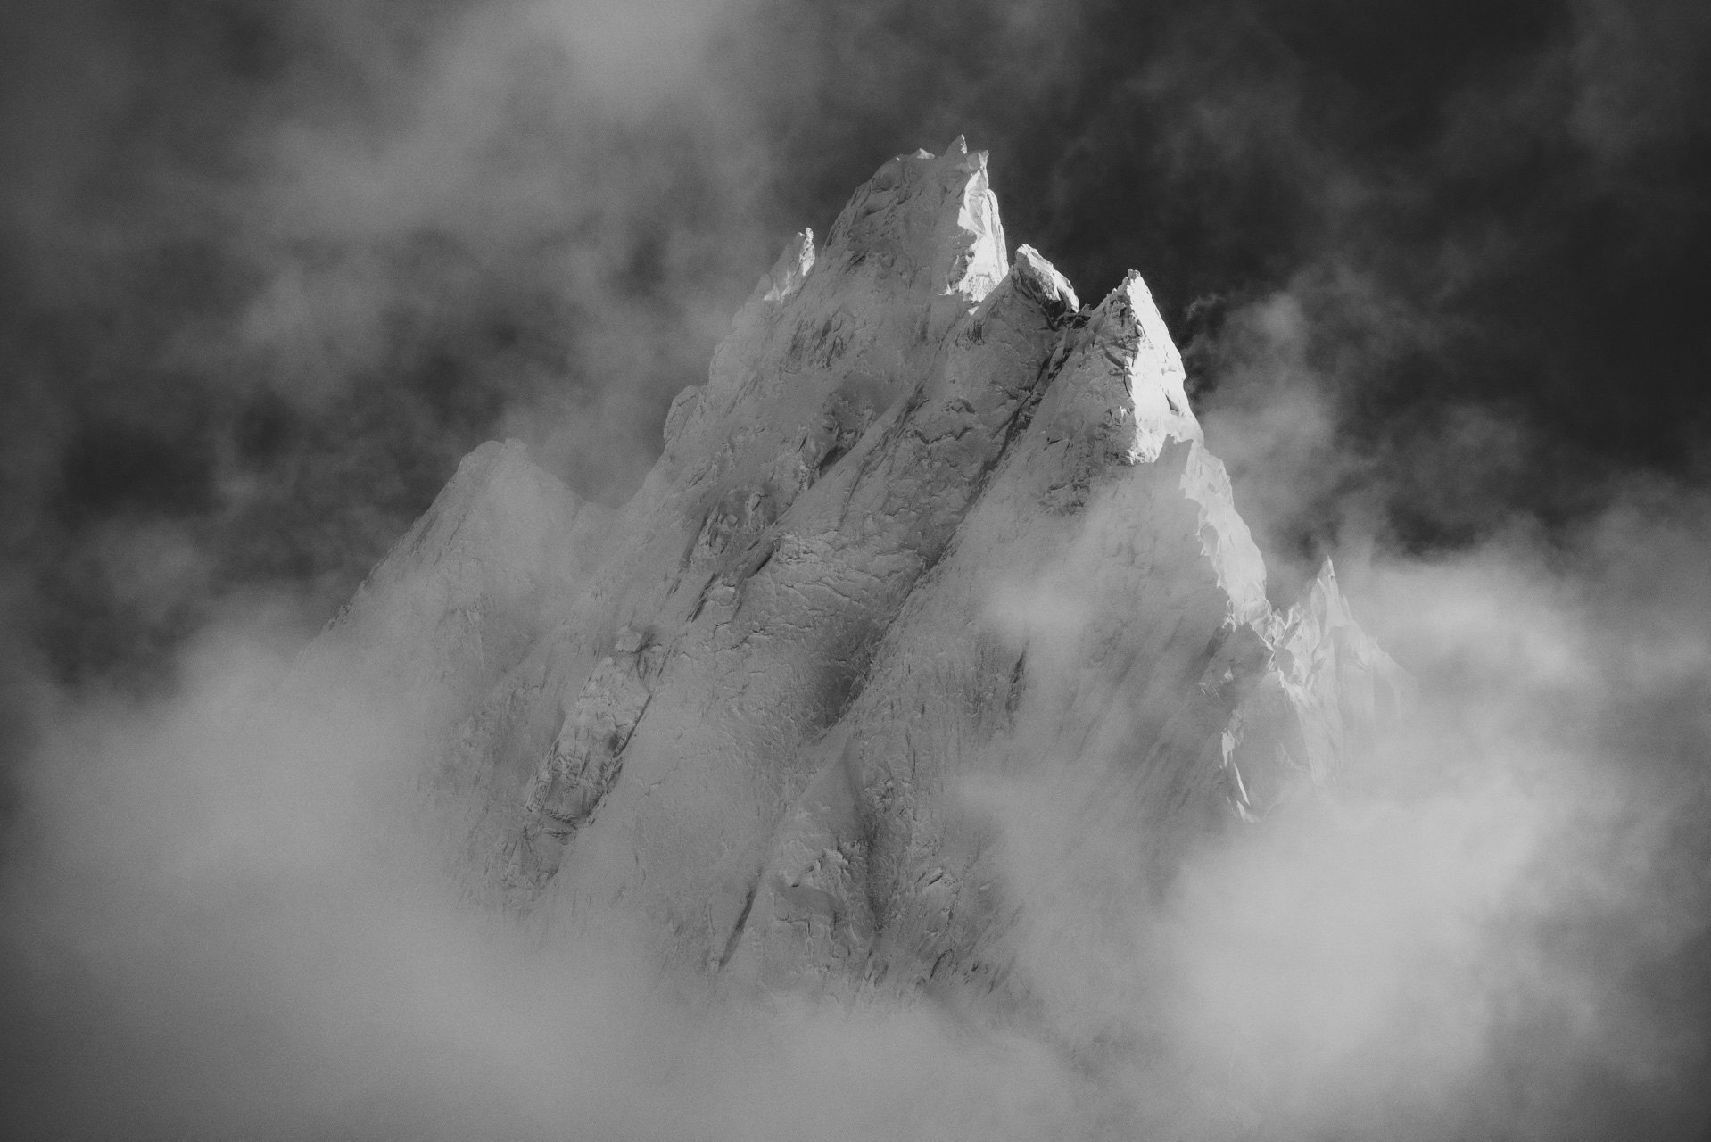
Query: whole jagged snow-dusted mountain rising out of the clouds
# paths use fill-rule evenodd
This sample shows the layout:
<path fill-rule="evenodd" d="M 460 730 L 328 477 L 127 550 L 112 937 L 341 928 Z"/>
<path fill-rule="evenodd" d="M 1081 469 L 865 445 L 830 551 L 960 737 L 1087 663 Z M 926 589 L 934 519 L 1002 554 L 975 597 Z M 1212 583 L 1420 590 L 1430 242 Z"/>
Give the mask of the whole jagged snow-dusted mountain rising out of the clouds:
<path fill-rule="evenodd" d="M 1266 601 L 1141 277 L 1011 255 L 960 139 L 789 243 L 616 517 L 483 445 L 337 640 L 452 723 L 477 895 L 720 988 L 1013 1007 L 1042 877 L 1162 890 L 1400 697 L 1329 567 Z"/>

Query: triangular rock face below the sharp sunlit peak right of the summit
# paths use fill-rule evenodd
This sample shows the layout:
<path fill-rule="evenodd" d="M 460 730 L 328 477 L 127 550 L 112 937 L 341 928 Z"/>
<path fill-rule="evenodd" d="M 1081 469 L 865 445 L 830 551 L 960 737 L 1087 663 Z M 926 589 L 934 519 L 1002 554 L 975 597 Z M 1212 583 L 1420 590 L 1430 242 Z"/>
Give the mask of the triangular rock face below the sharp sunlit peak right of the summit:
<path fill-rule="evenodd" d="M 1049 781 L 1122 815 L 1133 870 L 1163 868 L 1227 805 L 1220 731 L 1268 661 L 1259 553 L 1138 276 L 1059 358 L 813 752 L 826 777 L 809 800 L 854 784 L 859 812 L 792 813 L 737 937 L 734 969 L 763 986 L 850 967 L 891 986 L 1001 979 L 1018 894 L 987 859 L 991 822 L 962 803 L 972 779 Z M 835 839 L 814 854 L 809 836 Z M 821 913 L 804 918 L 809 899 Z"/>

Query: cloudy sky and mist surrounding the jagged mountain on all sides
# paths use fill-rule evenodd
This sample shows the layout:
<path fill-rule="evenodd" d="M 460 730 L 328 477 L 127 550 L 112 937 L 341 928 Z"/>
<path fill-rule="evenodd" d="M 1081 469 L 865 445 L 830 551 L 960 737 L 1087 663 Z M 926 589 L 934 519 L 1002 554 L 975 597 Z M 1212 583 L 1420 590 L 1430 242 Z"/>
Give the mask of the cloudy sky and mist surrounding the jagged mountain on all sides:
<path fill-rule="evenodd" d="M 1146 276 L 1275 594 L 1335 553 L 1422 681 L 1391 777 L 1131 949 L 1172 1065 L 1304 1137 L 1704 1128 L 1711 9 L 19 0 L 0 101 L 31 1121 L 1098 1127 L 1032 1044 L 725 1034 L 397 854 L 352 883 L 385 728 L 219 716 L 476 443 L 621 502 L 789 235 L 967 134 L 1013 243 Z"/>

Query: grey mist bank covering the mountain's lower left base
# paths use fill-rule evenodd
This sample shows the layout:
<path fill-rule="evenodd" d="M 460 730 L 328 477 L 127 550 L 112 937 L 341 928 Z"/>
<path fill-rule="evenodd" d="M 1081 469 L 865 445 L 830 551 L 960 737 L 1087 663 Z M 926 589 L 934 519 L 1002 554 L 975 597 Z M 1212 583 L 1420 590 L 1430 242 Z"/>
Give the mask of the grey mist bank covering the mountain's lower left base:
<path fill-rule="evenodd" d="M 0 925 L 33 1137 L 989 1139 L 1081 1115 L 1025 1039 L 710 1007 L 619 933 L 541 940 L 460 899 L 409 796 L 412 728 L 335 669 L 282 688 L 289 649 L 229 627 L 169 699 L 56 695 Z"/>

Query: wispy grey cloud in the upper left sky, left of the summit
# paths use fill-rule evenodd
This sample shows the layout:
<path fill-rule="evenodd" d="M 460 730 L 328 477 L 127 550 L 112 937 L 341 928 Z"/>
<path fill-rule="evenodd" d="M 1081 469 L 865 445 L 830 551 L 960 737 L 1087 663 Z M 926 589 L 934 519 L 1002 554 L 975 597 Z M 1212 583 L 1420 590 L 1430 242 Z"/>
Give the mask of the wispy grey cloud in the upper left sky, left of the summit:
<path fill-rule="evenodd" d="M 702 58 L 734 10 L 14 10 L 7 558 L 53 668 L 149 673 L 115 647 L 226 592 L 330 611 L 491 437 L 628 495 L 790 229 Z M 163 517 L 207 565 L 176 598 L 51 587 Z"/>

